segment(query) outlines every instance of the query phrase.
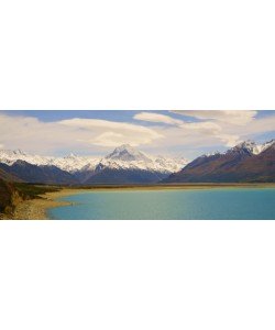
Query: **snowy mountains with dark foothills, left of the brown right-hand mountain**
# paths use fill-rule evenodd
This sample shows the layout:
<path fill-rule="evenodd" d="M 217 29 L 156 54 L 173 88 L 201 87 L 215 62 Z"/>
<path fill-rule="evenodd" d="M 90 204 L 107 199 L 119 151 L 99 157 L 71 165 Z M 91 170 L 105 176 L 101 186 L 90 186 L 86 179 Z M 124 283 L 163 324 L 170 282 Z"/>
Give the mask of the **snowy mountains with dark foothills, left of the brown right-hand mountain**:
<path fill-rule="evenodd" d="M 45 184 L 146 184 L 157 183 L 188 162 L 185 158 L 152 156 L 129 144 L 106 157 L 30 155 L 23 151 L 0 151 L 0 168 L 29 183 Z"/>

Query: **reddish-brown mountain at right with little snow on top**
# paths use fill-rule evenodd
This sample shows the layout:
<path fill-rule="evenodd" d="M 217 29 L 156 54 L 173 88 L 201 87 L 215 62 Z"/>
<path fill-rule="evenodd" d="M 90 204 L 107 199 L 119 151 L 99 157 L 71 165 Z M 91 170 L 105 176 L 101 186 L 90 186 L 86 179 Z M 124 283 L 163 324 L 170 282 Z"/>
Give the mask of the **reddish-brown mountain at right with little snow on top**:
<path fill-rule="evenodd" d="M 202 155 L 164 183 L 275 182 L 275 141 L 246 141 L 226 153 Z"/>

